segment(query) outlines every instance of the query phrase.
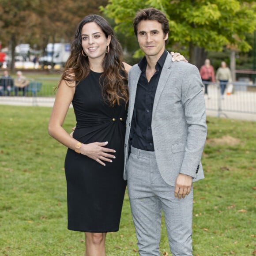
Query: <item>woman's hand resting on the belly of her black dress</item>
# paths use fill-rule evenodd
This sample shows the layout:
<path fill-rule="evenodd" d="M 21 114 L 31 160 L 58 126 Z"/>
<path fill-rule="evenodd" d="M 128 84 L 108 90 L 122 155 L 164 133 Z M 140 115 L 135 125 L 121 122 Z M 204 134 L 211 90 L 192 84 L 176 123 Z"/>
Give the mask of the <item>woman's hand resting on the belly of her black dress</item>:
<path fill-rule="evenodd" d="M 82 144 L 81 154 L 88 156 L 89 158 L 94 159 L 96 162 L 100 163 L 102 166 L 105 166 L 105 162 L 112 162 L 111 158 L 116 158 L 113 154 L 116 151 L 105 146 L 108 142 L 94 142 L 89 144 Z"/>

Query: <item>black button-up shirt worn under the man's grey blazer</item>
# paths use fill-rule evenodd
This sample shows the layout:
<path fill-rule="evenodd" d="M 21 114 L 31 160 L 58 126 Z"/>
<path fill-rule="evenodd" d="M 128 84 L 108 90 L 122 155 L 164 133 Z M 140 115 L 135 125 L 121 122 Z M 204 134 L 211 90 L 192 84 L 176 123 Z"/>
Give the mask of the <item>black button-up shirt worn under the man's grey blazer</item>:
<path fill-rule="evenodd" d="M 154 151 L 154 142 L 151 131 L 152 109 L 154 96 L 157 89 L 158 81 L 162 72 L 163 65 L 167 57 L 165 50 L 155 65 L 156 72 L 147 81 L 146 68 L 147 60 L 144 57 L 139 62 L 141 75 L 137 85 L 136 99 L 132 117 L 131 126 L 131 145 L 146 151 Z"/>

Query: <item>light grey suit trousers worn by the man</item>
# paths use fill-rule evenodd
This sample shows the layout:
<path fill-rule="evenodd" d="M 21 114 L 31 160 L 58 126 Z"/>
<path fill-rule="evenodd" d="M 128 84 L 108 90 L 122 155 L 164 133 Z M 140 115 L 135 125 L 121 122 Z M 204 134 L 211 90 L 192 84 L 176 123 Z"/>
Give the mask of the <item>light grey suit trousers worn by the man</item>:
<path fill-rule="evenodd" d="M 159 256 L 162 211 L 173 256 L 192 256 L 193 189 L 184 199 L 159 173 L 154 152 L 131 147 L 128 195 L 140 256 Z"/>

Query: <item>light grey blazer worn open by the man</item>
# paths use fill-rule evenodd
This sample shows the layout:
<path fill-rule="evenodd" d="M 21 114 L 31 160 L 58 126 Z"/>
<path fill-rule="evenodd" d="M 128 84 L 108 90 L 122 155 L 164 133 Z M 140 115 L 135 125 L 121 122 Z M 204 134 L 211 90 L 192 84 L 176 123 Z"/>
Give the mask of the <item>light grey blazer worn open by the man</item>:
<path fill-rule="evenodd" d="M 155 93 L 151 128 L 158 169 L 163 180 L 175 186 L 179 173 L 192 176 L 193 181 L 204 178 L 200 161 L 207 125 L 198 68 L 171 59 L 168 53 Z M 124 141 L 124 180 L 127 180 L 130 130 L 140 74 L 138 64 L 128 74 L 130 99 Z"/>

